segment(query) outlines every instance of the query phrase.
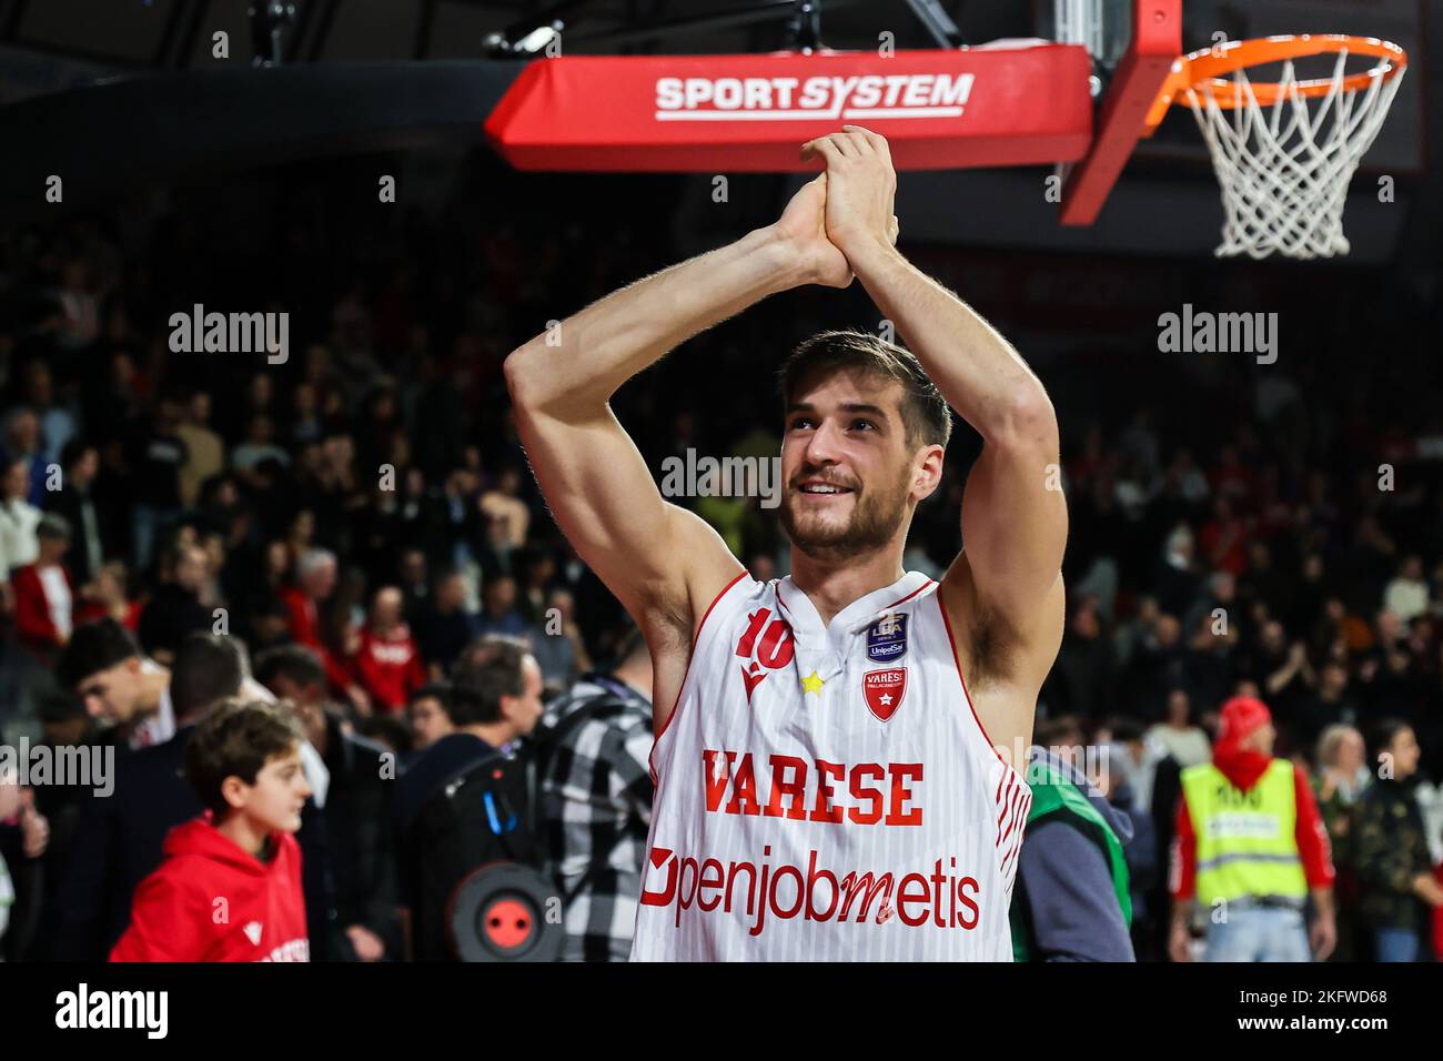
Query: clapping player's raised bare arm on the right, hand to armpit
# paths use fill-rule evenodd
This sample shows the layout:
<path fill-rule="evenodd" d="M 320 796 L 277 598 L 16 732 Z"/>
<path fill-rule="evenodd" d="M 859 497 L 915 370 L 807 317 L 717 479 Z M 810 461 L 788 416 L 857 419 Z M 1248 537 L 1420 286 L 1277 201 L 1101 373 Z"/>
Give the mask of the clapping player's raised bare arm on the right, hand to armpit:
<path fill-rule="evenodd" d="M 1000 717 L 984 713 L 988 733 L 999 743 L 1027 739 L 1062 637 L 1068 521 L 1052 403 L 1001 335 L 893 247 L 896 175 L 886 140 L 844 126 L 804 154 L 827 163 L 831 243 L 948 404 L 983 436 L 962 495 L 965 551 L 942 579 L 942 601 L 958 651 L 968 651 L 968 681 L 1016 693 L 993 712 Z"/>

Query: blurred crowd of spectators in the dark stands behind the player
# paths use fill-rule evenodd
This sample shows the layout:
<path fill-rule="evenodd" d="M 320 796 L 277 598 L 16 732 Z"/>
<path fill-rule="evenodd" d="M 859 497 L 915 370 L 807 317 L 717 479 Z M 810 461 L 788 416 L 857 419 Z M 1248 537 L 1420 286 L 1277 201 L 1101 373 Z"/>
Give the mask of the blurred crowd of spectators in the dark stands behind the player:
<path fill-rule="evenodd" d="M 400 751 L 429 725 L 407 706 L 481 635 L 530 639 L 548 697 L 615 651 L 625 616 L 551 521 L 499 370 L 547 320 L 681 250 L 595 205 L 593 227 L 518 221 L 504 196 L 368 225 L 325 195 L 283 208 L 276 193 L 260 231 L 179 196 L 144 224 L 94 215 L 0 235 L 7 741 L 55 722 L 55 657 L 102 616 L 160 664 L 195 631 L 253 655 L 304 645 L 326 697 Z M 771 370 L 742 364 L 804 336 L 789 329 L 838 323 L 808 297 L 698 338 L 690 368 L 677 355 L 618 396 L 648 459 L 778 450 Z M 287 361 L 172 352 L 169 318 L 195 303 L 289 312 Z M 755 387 L 732 385 L 743 378 Z M 1206 755 L 1216 707 L 1251 689 L 1325 803 L 1355 788 L 1329 756 L 1384 717 L 1413 726 L 1426 778 L 1443 762 L 1436 380 L 1394 396 L 1423 411 L 1387 424 L 1371 422 L 1377 394 L 1320 413 L 1281 370 L 1247 385 L 1186 437 L 1173 411 L 1198 396 L 1139 393 L 1113 416 L 1055 391 L 1069 592 L 1039 717 L 1137 762 L 1186 765 Z M 1329 417 L 1335 430 L 1317 432 Z M 909 569 L 937 575 L 957 550 L 970 446 L 961 435 L 916 514 Z M 683 504 L 756 577 L 786 573 L 756 499 Z"/>

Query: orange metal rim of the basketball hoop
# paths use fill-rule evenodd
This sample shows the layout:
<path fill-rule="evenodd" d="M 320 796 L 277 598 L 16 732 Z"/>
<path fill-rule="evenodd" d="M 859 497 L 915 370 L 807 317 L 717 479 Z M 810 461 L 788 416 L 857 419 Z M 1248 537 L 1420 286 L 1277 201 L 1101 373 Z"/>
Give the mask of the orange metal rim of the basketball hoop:
<path fill-rule="evenodd" d="M 1253 40 L 1224 40 L 1212 48 L 1189 52 L 1173 62 L 1172 72 L 1163 81 L 1157 100 L 1147 114 L 1147 127 L 1156 128 L 1167 114 L 1167 108 L 1185 98 L 1189 89 L 1211 89 L 1214 102 L 1221 110 L 1238 105 L 1240 100 L 1234 92 L 1234 82 L 1221 77 L 1222 74 L 1232 74 L 1247 66 L 1343 51 L 1349 55 L 1368 55 L 1381 59 L 1381 62 L 1358 74 L 1349 74 L 1341 82 L 1335 78 L 1296 81 L 1290 95 L 1316 98 L 1335 89 L 1358 92 L 1378 78 L 1392 81 L 1408 66 L 1407 52 L 1391 40 L 1380 40 L 1378 38 L 1356 38 L 1346 33 L 1299 33 Z M 1283 87 L 1276 81 L 1254 81 L 1250 85 L 1253 95 L 1263 105 L 1274 104 L 1283 95 Z"/>

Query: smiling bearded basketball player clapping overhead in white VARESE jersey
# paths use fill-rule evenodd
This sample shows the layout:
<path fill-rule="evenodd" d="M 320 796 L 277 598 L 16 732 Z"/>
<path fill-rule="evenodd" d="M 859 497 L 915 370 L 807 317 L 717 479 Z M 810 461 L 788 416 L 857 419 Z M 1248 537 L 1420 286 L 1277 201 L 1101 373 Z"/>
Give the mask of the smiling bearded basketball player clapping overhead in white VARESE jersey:
<path fill-rule="evenodd" d="M 658 790 L 632 957 L 1007 961 L 1017 771 L 1062 637 L 1056 417 L 1016 351 L 896 250 L 886 140 L 843 126 L 802 157 L 825 172 L 775 224 L 505 365 L 557 523 L 651 648 Z M 608 400 L 768 294 L 854 276 L 915 357 L 830 332 L 784 364 L 792 573 L 762 583 L 661 498 Z M 948 406 L 984 447 L 965 551 L 935 583 L 902 554 Z"/>

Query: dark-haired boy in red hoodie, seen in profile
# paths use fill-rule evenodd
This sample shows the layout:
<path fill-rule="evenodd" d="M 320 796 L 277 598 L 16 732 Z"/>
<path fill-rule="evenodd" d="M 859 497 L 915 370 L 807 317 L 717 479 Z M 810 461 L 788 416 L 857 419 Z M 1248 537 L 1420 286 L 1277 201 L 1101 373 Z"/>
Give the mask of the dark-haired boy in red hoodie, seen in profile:
<path fill-rule="evenodd" d="M 300 729 L 284 704 L 227 700 L 186 745 L 206 811 L 166 837 L 111 961 L 309 961 Z"/>

